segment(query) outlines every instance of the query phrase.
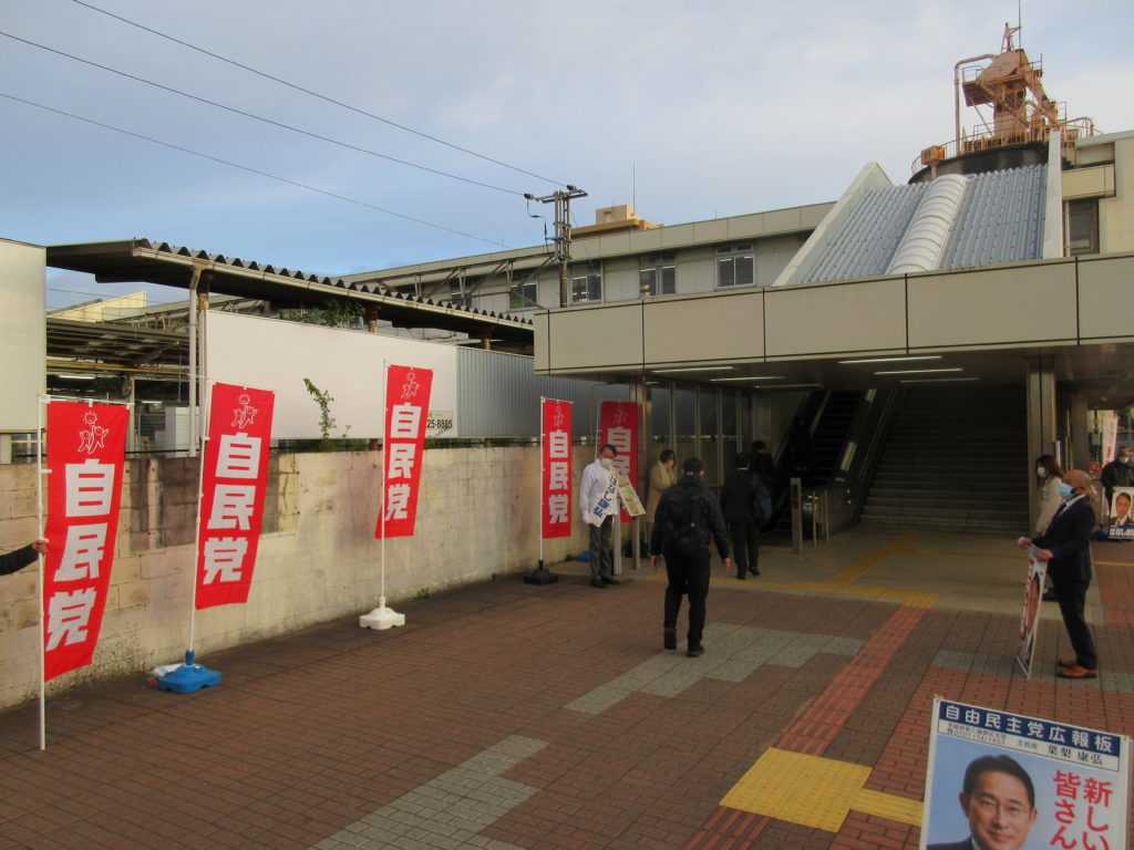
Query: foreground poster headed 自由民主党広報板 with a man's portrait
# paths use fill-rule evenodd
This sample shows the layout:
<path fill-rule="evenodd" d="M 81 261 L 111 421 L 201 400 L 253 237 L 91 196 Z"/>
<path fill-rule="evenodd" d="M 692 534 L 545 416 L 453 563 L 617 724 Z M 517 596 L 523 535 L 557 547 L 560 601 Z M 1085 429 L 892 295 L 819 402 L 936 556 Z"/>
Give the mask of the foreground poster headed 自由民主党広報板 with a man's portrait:
<path fill-rule="evenodd" d="M 933 700 L 921 850 L 1125 850 L 1129 739 Z"/>

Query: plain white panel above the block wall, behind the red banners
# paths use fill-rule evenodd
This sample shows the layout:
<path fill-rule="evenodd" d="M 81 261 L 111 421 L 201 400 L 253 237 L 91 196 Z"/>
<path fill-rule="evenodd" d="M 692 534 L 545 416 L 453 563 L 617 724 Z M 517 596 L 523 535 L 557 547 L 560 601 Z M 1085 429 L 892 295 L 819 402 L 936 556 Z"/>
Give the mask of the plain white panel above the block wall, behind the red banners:
<path fill-rule="evenodd" d="M 328 436 L 381 437 L 383 360 L 432 369 L 433 424 L 428 435 L 457 433 L 457 352 L 452 346 L 213 312 L 208 334 L 210 380 L 276 393 L 276 439 L 321 436 L 319 405 L 307 392 L 305 377 L 331 396 L 329 414 L 335 425 Z"/>

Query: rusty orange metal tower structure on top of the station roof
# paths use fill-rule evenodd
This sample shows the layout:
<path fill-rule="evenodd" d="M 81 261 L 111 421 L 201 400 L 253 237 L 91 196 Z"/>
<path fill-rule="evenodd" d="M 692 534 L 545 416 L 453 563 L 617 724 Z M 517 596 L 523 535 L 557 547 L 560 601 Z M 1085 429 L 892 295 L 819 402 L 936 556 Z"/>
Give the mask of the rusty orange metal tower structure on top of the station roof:
<path fill-rule="evenodd" d="M 1017 46 L 1018 26 L 1004 26 L 999 53 L 983 53 L 962 59 L 954 66 L 956 136 L 953 142 L 933 145 L 913 162 L 916 173 L 925 168 L 936 172 L 938 164 L 958 156 L 1027 145 L 1046 145 L 1059 131 L 1064 148 L 1081 137 L 1094 135 L 1090 118 L 1067 118 L 1065 103 L 1052 100 L 1043 90 L 1043 67 Z M 960 101 L 976 111 L 971 133 L 960 125 Z"/>

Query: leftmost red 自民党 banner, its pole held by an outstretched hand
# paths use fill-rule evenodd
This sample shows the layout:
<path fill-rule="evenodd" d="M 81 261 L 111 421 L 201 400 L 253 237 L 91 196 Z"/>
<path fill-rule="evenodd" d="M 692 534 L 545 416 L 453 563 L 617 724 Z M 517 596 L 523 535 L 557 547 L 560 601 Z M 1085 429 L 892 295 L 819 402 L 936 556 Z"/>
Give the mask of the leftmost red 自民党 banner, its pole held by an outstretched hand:
<path fill-rule="evenodd" d="M 44 681 L 91 663 L 115 560 L 129 409 L 48 403 Z"/>

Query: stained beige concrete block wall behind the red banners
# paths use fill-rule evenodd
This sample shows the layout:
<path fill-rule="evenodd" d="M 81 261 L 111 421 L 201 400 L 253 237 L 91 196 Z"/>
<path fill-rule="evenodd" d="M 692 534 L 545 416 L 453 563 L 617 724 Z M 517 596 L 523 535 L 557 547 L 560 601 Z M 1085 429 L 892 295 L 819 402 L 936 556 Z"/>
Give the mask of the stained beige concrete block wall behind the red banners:
<path fill-rule="evenodd" d="M 576 449 L 577 487 L 591 451 Z M 196 613 L 198 660 L 222 648 L 352 618 L 378 605 L 382 543 L 374 538 L 381 452 L 273 454 L 247 604 Z M 387 604 L 493 577 L 539 559 L 540 453 L 535 447 L 433 449 L 423 459 L 413 537 L 386 542 Z M 94 662 L 48 683 L 77 685 L 180 661 L 189 640 L 197 462 L 132 460 L 126 467 L 110 592 Z M 0 466 L 0 547 L 36 536 L 33 466 Z M 574 533 L 544 542 L 552 564 L 586 547 Z M 39 689 L 35 567 L 0 577 L 0 708 Z M 223 671 L 221 671 L 223 672 Z"/>

